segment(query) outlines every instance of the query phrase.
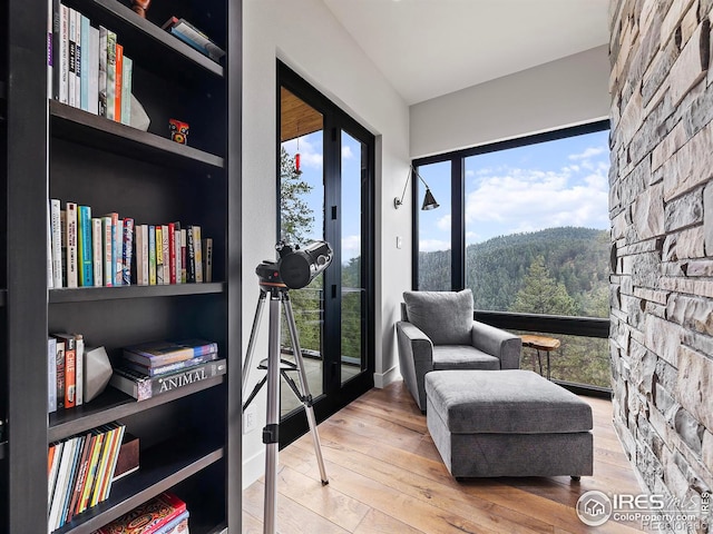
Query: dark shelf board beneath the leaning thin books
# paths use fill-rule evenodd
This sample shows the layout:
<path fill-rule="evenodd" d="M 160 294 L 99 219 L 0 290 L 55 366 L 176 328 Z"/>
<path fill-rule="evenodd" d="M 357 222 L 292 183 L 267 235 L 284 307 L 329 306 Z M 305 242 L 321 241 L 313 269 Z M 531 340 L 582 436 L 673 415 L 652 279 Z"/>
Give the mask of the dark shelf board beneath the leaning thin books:
<path fill-rule="evenodd" d="M 222 446 L 199 436 L 179 436 L 141 451 L 139 469 L 111 486 L 109 498 L 55 531 L 89 534 L 224 456 Z M 193 528 L 192 528 L 193 531 Z"/>

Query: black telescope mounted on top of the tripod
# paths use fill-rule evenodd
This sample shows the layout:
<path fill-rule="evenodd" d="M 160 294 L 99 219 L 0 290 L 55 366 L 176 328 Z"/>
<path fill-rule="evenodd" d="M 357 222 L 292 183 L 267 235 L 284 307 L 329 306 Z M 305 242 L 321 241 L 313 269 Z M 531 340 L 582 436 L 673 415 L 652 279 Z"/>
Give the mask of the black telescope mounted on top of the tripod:
<path fill-rule="evenodd" d="M 275 249 L 280 253 L 277 261 L 264 260 L 255 268 L 261 285 L 301 289 L 326 269 L 334 257 L 326 241 L 313 241 L 302 249 L 280 241 Z"/>

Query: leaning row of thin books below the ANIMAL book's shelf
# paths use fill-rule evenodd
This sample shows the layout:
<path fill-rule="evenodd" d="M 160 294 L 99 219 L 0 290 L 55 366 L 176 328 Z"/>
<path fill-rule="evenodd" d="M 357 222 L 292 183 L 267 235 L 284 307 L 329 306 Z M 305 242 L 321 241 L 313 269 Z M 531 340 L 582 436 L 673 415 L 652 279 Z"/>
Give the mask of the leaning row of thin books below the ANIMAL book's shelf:
<path fill-rule="evenodd" d="M 109 496 L 125 428 L 115 422 L 49 446 L 48 532 Z"/>

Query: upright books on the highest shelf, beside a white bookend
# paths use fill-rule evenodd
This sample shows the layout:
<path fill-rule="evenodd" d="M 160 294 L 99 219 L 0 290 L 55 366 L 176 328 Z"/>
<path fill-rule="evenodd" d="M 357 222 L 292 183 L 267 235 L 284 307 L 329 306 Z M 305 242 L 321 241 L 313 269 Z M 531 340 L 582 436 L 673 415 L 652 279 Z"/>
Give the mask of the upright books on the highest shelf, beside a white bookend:
<path fill-rule="evenodd" d="M 49 0 L 48 97 L 129 125 L 134 61 L 110 29 Z"/>

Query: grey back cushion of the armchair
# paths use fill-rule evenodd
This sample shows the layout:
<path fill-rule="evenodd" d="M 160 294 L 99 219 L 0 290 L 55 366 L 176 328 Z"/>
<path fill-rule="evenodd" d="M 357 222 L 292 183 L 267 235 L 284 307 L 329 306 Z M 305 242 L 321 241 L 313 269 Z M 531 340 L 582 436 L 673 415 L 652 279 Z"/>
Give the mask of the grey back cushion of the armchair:
<path fill-rule="evenodd" d="M 433 345 L 470 345 L 472 293 L 404 291 L 409 323 L 421 329 Z"/>

